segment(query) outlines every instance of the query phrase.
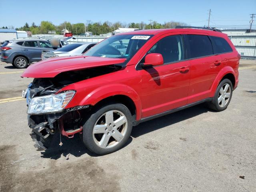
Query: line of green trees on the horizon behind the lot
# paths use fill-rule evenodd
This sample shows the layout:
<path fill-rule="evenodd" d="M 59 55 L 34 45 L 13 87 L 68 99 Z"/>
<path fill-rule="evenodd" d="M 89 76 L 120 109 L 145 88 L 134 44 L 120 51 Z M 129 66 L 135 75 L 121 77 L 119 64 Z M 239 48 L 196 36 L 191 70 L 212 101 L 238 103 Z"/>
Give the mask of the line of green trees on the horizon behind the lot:
<path fill-rule="evenodd" d="M 86 26 L 84 23 L 71 24 L 70 22 L 63 22 L 60 25 L 54 25 L 49 21 L 42 21 L 39 26 L 34 22 L 29 25 L 27 22 L 24 26 L 16 28 L 16 30 L 31 31 L 32 34 L 48 34 L 49 31 L 55 31 L 56 34 L 60 34 L 63 29 L 67 29 L 74 35 L 84 34 L 85 30 L 92 32 L 93 35 L 106 34 L 116 30 L 117 28 L 138 28 L 138 29 L 162 29 L 162 28 L 174 28 L 175 26 L 182 25 L 186 26 L 184 22 L 164 22 L 163 24 L 156 21 L 151 22 L 151 24 L 146 24 L 145 22 L 140 23 L 125 23 L 125 22 L 92 22 L 91 20 L 86 21 Z M 3 27 L 4 28 L 4 27 Z"/>

